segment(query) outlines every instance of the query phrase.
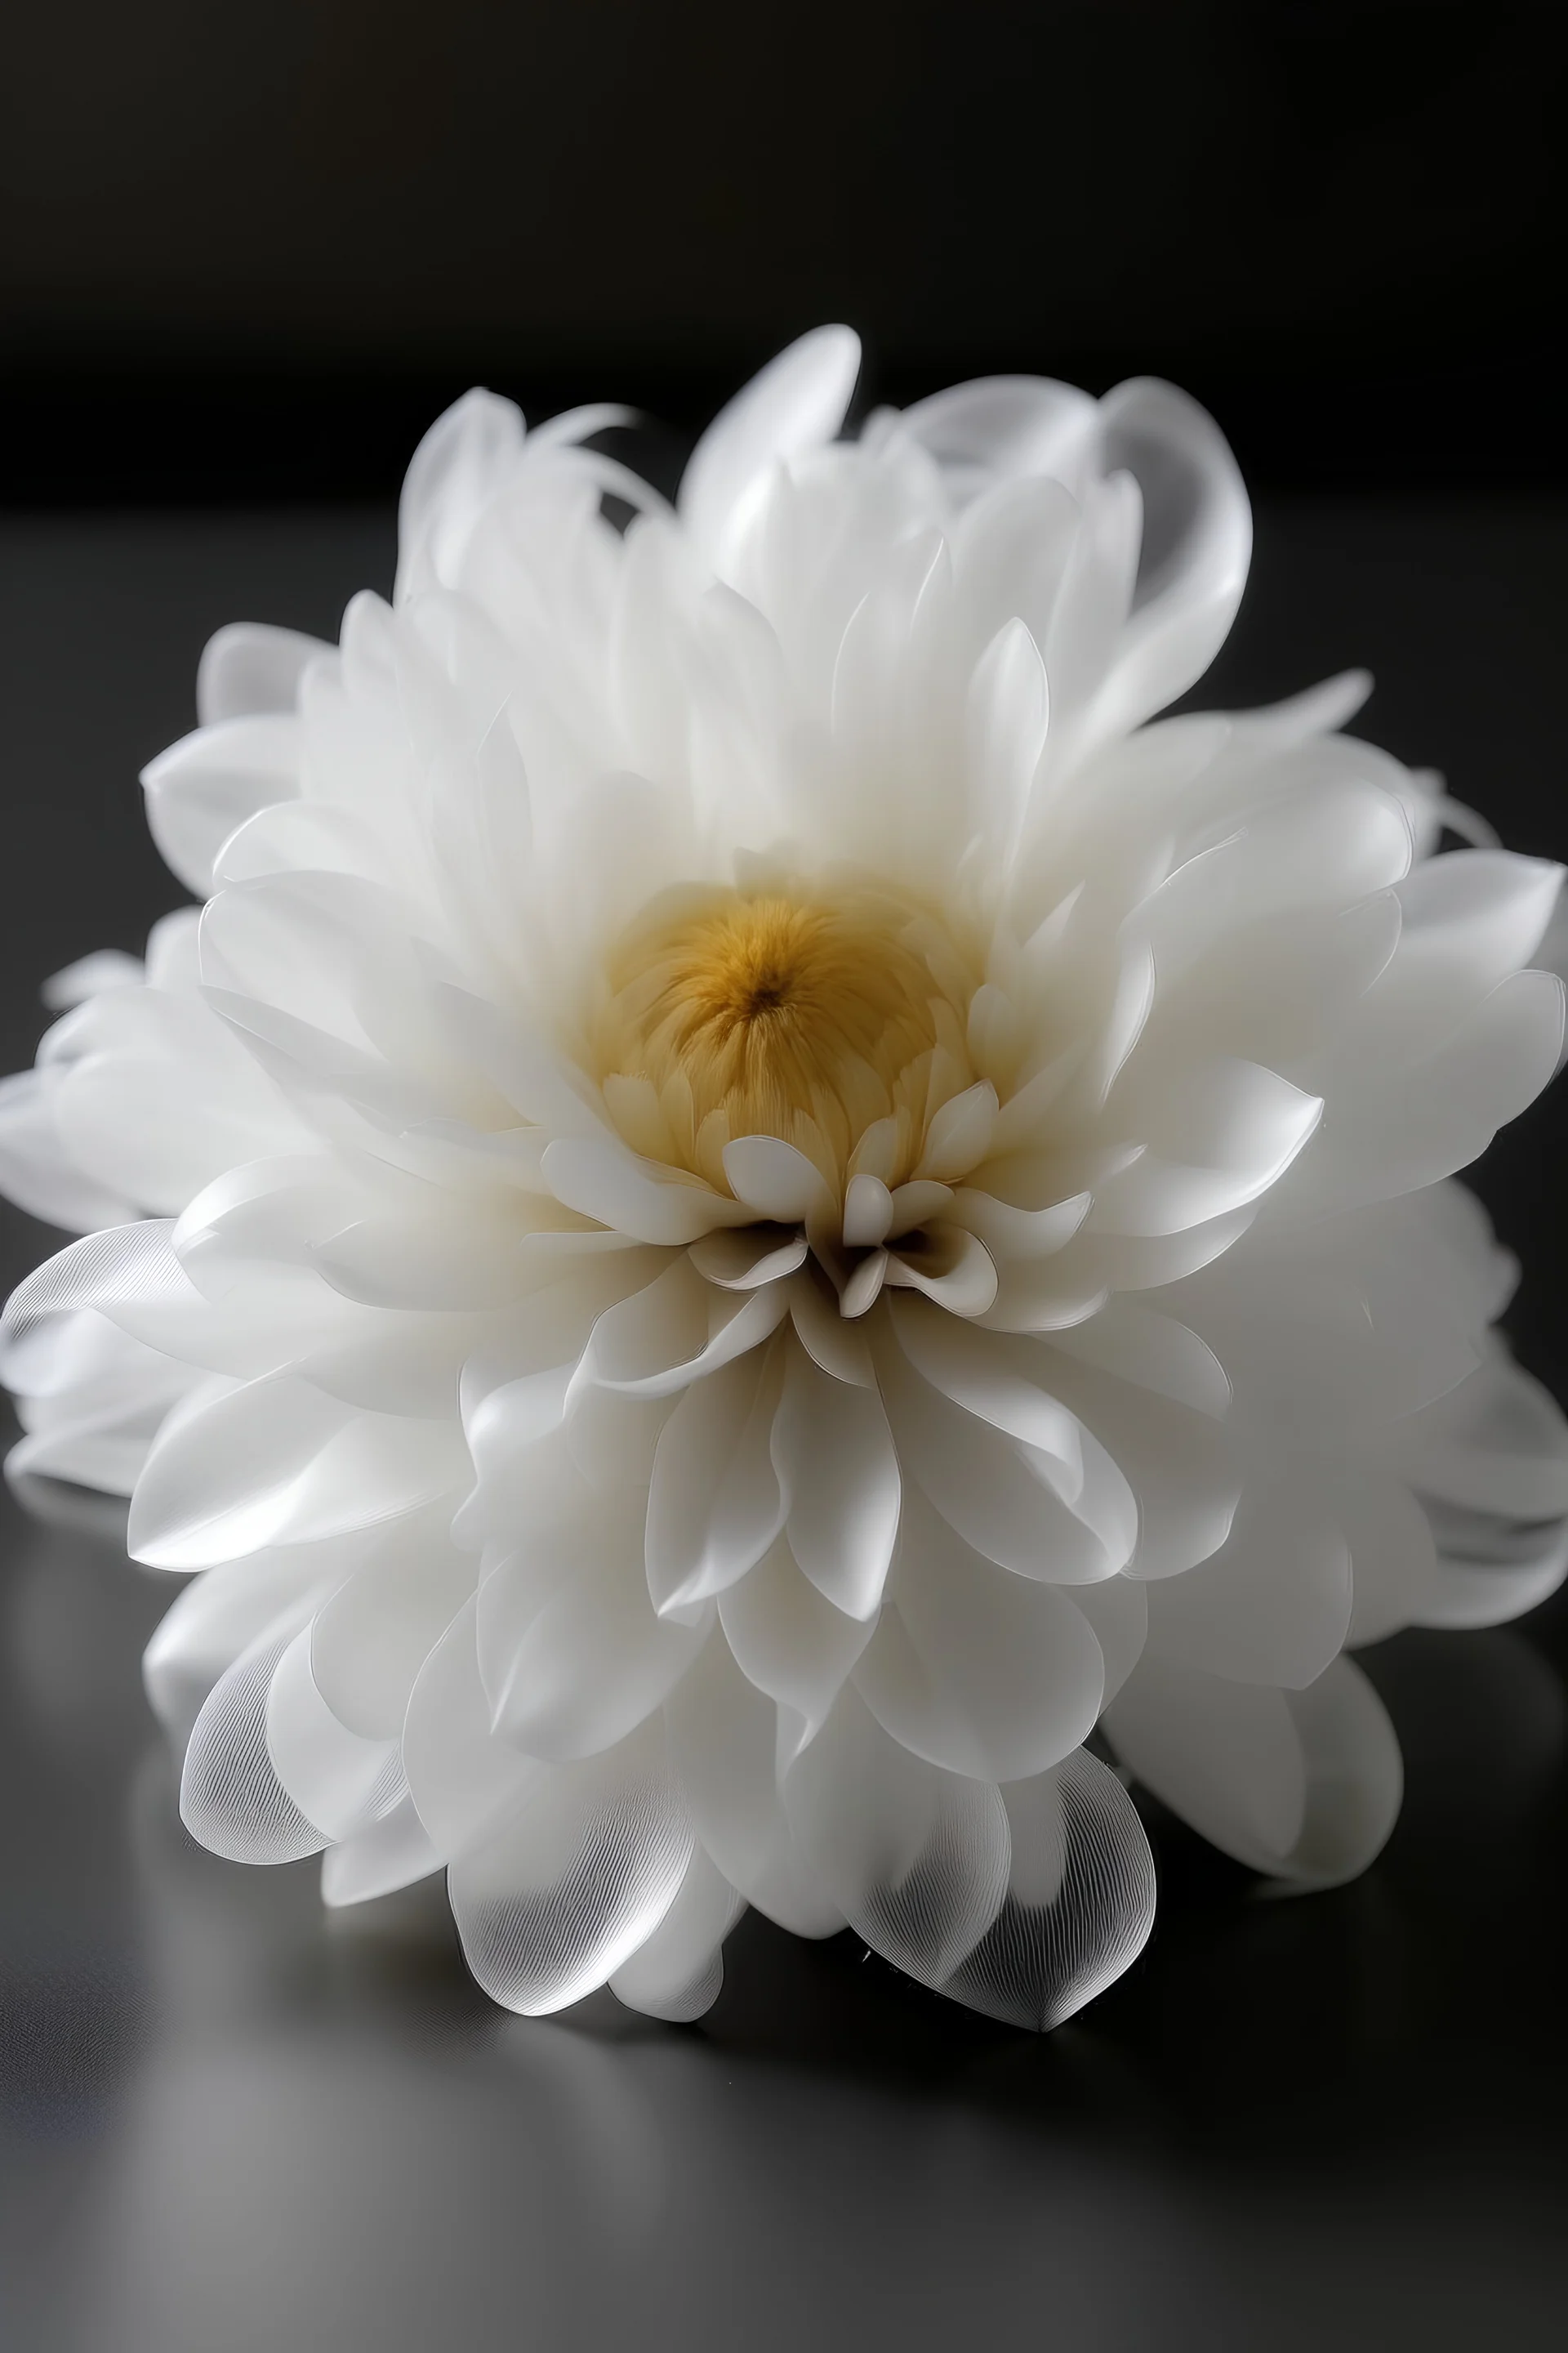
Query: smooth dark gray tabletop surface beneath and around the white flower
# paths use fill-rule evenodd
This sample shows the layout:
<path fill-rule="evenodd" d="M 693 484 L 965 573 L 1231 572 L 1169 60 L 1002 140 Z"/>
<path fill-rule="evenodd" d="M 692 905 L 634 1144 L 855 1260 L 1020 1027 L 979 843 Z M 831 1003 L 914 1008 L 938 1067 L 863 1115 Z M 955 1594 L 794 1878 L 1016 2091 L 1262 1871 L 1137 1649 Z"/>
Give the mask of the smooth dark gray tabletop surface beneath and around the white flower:
<path fill-rule="evenodd" d="M 1265 504 L 1222 701 L 1366 661 L 1361 722 L 1568 852 L 1568 515 Z M 35 986 L 179 899 L 136 769 L 205 635 L 334 633 L 381 511 L 0 520 L 0 1066 Z M 1568 1101 L 1481 1181 L 1568 1393 Z M 0 1231 L 16 1278 L 49 1235 Z M 437 1892 L 327 1918 L 202 1854 L 146 1711 L 169 1581 L 0 1504 L 0 2344 L 1185 2353 L 1568 2341 L 1568 1598 L 1366 1654 L 1408 1798 L 1354 1887 L 1258 1901 L 1152 1817 L 1133 1972 L 1034 2040 L 748 1918 L 696 2028 L 494 2009 Z"/>

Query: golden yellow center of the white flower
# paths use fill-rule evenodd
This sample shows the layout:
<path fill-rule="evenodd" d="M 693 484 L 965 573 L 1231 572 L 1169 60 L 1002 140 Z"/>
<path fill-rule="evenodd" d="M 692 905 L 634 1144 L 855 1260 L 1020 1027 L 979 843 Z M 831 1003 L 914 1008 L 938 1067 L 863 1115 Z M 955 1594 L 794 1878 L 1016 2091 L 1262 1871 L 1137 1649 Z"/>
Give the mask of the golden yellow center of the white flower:
<path fill-rule="evenodd" d="M 971 1082 L 976 976 L 945 927 L 877 889 L 712 892 L 623 941 L 599 1033 L 611 1115 L 649 1158 L 722 1181 L 731 1136 L 783 1136 L 842 1184 L 879 1122 L 903 1181 Z"/>

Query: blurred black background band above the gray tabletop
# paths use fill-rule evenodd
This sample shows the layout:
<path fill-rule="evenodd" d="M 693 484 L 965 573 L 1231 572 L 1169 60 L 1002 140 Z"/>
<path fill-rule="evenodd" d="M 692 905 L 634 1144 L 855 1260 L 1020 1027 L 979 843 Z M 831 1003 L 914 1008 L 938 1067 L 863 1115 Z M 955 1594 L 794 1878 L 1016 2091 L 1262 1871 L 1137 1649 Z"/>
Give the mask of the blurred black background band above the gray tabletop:
<path fill-rule="evenodd" d="M 686 433 L 1178 376 L 1269 487 L 1563 480 L 1554 12 L 61 0 L 0 99 L 0 499 L 381 496 L 470 381 Z"/>

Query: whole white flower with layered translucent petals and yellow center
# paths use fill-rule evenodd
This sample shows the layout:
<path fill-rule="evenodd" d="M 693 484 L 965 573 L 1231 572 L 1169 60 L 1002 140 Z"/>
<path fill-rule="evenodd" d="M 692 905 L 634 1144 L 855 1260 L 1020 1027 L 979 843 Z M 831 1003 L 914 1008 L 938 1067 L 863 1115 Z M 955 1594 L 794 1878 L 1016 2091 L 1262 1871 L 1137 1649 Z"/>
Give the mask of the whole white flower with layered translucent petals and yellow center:
<path fill-rule="evenodd" d="M 1563 1574 L 1446 1184 L 1554 1071 L 1559 871 L 1434 856 L 1361 680 L 1152 725 L 1251 541 L 1180 393 L 842 442 L 856 358 L 672 513 L 616 412 L 458 402 L 390 607 L 207 649 L 146 774 L 205 908 L 63 974 L 2 1108 L 89 1228 L 14 1461 L 202 1572 L 188 1826 L 331 1904 L 444 1866 L 515 2009 L 693 2017 L 755 1904 L 1056 2024 L 1150 1929 L 1126 1777 L 1354 1873 L 1345 1649 Z"/>

